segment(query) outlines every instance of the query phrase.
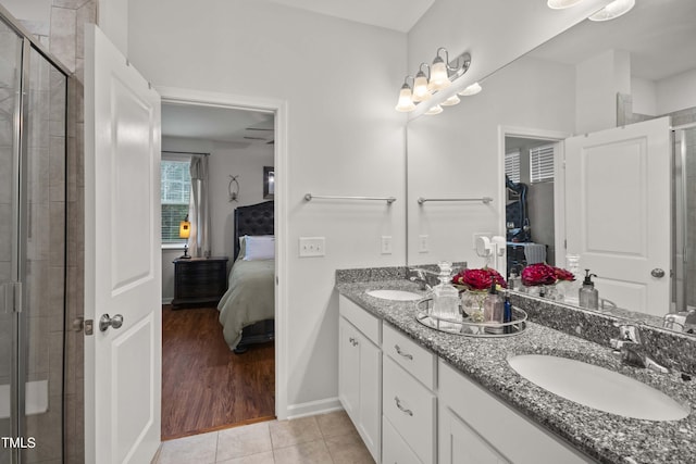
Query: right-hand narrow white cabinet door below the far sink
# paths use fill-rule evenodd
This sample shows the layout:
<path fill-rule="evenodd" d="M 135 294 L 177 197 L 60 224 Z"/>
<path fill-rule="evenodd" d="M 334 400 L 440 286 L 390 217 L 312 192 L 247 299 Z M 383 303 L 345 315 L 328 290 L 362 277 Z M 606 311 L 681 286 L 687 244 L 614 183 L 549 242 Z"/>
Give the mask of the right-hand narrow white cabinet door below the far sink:
<path fill-rule="evenodd" d="M 358 336 L 360 348 L 360 435 L 376 462 L 381 449 L 382 350 Z"/>

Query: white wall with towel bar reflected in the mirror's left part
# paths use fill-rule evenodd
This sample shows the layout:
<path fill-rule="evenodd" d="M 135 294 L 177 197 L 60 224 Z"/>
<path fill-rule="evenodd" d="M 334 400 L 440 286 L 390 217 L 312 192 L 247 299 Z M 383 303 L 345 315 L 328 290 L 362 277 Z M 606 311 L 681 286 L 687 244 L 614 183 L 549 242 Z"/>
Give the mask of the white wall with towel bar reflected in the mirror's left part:
<path fill-rule="evenodd" d="M 573 66 L 525 58 L 486 79 L 484 90 L 435 116 L 420 116 L 408 127 L 409 264 L 467 261 L 481 267 L 474 233 L 502 235 L 505 172 L 499 127 L 564 131 L 574 129 Z M 482 203 L 425 203 L 418 197 L 490 197 Z M 431 251 L 419 251 L 419 236 Z"/>

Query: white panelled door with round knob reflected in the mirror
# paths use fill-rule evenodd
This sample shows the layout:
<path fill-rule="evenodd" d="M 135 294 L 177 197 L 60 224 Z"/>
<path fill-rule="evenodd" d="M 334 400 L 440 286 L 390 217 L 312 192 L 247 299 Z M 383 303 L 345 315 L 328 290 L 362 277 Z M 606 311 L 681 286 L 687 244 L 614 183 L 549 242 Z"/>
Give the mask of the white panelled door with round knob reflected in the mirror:
<path fill-rule="evenodd" d="M 567 252 L 619 308 L 669 310 L 670 160 L 669 117 L 566 140 Z"/>

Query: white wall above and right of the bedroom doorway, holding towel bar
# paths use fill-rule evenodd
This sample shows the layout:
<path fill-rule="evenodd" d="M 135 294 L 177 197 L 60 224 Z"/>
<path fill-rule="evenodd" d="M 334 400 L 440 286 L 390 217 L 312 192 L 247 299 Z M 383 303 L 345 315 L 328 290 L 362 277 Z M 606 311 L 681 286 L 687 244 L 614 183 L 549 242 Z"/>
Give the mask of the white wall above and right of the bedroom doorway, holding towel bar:
<path fill-rule="evenodd" d="M 156 86 L 287 101 L 290 414 L 337 404 L 336 268 L 405 263 L 406 35 L 256 0 L 129 4 L 130 61 Z M 372 202 L 303 195 L 394 196 Z M 277 199 L 276 199 L 277 200 Z M 394 253 L 380 254 L 380 238 Z M 300 236 L 326 238 L 299 259 Z M 278 388 L 285 388 L 278 386 Z"/>

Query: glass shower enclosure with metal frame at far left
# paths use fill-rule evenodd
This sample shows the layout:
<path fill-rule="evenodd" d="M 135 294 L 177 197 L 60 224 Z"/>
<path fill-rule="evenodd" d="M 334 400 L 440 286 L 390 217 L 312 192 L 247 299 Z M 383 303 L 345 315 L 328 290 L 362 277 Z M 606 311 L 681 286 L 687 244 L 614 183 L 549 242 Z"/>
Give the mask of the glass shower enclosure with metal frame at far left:
<path fill-rule="evenodd" d="M 0 9 L 0 464 L 63 461 L 67 74 Z"/>

